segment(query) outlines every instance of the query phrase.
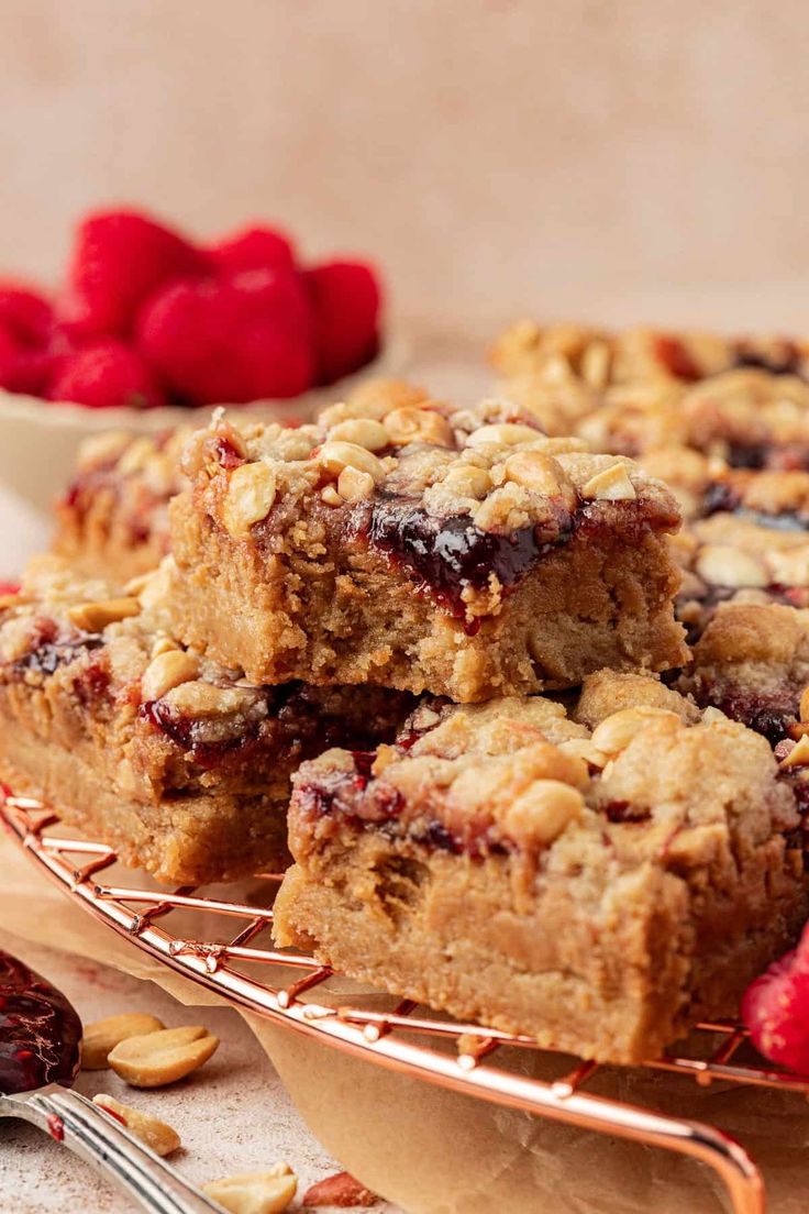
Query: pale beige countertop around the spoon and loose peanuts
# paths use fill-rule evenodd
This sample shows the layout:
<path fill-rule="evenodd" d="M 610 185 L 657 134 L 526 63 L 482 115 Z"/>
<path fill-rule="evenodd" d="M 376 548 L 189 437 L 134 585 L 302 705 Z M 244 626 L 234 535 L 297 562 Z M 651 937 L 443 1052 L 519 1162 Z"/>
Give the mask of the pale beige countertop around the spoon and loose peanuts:
<path fill-rule="evenodd" d="M 136 1091 L 112 1071 L 80 1073 L 75 1085 L 86 1096 L 108 1093 L 172 1125 L 183 1147 L 170 1162 L 192 1180 L 255 1172 L 284 1159 L 297 1173 L 300 1197 L 340 1169 L 307 1130 L 238 1012 L 183 1008 L 150 982 L 28 941 L 4 938 L 2 946 L 63 991 L 85 1023 L 121 1011 L 147 1011 L 169 1027 L 204 1023 L 220 1038 L 204 1070 L 170 1088 Z M 329 1214 L 330 1207 L 320 1209 Z M 22 1122 L 0 1119 L 0 1210 L 129 1214 L 135 1207 L 47 1135 Z M 397 1214 L 387 1203 L 374 1210 Z"/>

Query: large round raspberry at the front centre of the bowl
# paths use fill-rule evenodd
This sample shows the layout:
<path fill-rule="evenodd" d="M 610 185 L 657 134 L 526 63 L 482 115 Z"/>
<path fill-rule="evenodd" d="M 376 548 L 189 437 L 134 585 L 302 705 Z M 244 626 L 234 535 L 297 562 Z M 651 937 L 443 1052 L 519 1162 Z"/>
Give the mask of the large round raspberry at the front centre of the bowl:
<path fill-rule="evenodd" d="M 240 404 L 312 385 L 311 325 L 297 276 L 255 270 L 160 291 L 143 310 L 138 341 L 189 403 Z"/>

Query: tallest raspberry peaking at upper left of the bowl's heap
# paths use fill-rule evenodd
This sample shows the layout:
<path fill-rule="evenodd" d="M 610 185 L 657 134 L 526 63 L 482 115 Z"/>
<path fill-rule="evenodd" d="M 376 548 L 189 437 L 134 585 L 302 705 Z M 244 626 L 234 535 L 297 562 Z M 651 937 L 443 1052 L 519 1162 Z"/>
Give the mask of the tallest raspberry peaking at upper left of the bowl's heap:
<path fill-rule="evenodd" d="M 209 261 L 176 232 L 137 211 L 99 211 L 76 233 L 59 313 L 76 339 L 125 336 L 163 283 L 206 273 Z"/>

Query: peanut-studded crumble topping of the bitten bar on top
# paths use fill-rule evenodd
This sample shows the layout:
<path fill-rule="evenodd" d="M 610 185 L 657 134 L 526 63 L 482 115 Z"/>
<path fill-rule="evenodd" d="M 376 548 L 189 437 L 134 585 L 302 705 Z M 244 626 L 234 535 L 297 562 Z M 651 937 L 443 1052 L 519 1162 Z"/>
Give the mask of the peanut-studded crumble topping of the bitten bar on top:
<path fill-rule="evenodd" d="M 331 509 L 417 503 L 427 515 L 466 518 L 492 533 L 542 527 L 560 534 L 583 510 L 602 515 L 609 527 L 620 518 L 619 506 L 649 527 L 677 526 L 668 490 L 631 460 L 593 454 L 581 441 L 549 438 L 522 422 L 482 420 L 501 407 L 497 402 L 480 407 L 472 429 L 471 410 L 456 415 L 421 399 L 384 412 L 389 403 L 365 398 L 365 415 L 351 403 L 349 416 L 332 405 L 318 422 L 296 430 L 256 422 L 237 429 L 220 416 L 194 437 L 186 470 L 209 512 L 237 539 L 274 506 L 301 509 L 314 497 Z M 410 410 L 408 427 L 403 408 Z"/>

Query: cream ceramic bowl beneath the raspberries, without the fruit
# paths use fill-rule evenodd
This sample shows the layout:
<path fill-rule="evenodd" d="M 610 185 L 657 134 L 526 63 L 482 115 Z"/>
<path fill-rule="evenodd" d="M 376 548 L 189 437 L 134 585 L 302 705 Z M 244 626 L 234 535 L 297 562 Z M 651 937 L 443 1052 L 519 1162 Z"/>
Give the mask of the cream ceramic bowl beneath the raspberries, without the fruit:
<path fill-rule="evenodd" d="M 317 409 L 338 401 L 363 379 L 400 375 L 405 370 L 408 344 L 389 335 L 384 348 L 360 371 L 329 387 L 317 388 L 291 401 L 256 401 L 233 405 L 239 414 L 306 421 Z M 104 430 L 154 433 L 173 426 L 204 426 L 212 407 L 181 409 L 86 409 L 78 404 L 46 403 L 30 396 L 0 390 L 0 482 L 39 511 L 49 512 L 53 499 L 70 481 L 76 450 L 85 438 Z"/>

